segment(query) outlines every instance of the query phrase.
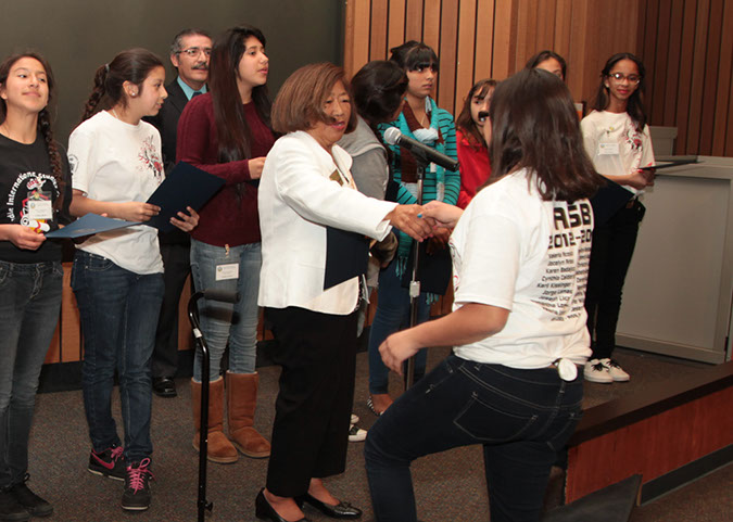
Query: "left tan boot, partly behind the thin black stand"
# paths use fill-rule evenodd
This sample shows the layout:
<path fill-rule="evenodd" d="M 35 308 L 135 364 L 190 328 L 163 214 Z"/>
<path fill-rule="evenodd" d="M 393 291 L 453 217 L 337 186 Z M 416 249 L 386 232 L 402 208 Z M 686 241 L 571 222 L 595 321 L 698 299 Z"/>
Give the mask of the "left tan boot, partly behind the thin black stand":
<path fill-rule="evenodd" d="M 191 379 L 191 406 L 193 407 L 193 447 L 199 450 L 201 428 L 201 383 Z M 224 434 L 224 378 L 208 383 L 208 440 L 206 458 L 212 462 L 227 464 L 237 462 L 239 454 Z"/>

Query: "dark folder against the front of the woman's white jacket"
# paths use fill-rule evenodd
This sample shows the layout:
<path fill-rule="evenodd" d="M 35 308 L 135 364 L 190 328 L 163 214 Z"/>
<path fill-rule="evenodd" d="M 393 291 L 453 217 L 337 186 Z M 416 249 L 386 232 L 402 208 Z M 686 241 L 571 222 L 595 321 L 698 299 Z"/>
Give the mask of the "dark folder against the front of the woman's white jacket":
<path fill-rule="evenodd" d="M 369 264 L 369 238 L 326 227 L 326 273 L 324 291 L 356 276 L 363 276 Z"/>

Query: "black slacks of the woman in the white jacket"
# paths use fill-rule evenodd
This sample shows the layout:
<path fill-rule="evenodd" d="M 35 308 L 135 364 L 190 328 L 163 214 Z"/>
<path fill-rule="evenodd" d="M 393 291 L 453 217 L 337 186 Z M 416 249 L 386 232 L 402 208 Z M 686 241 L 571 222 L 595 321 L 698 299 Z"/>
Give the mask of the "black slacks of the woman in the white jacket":
<path fill-rule="evenodd" d="M 342 473 L 354 399 L 356 311 L 347 316 L 298 307 L 265 308 L 282 367 L 275 404 L 267 489 L 307 492 L 312 478 Z"/>

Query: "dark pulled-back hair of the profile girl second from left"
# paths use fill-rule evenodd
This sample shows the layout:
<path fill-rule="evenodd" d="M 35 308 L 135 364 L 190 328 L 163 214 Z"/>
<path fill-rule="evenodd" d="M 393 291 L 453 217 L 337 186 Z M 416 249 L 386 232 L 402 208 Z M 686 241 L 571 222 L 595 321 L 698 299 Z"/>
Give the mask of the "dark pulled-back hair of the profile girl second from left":
<path fill-rule="evenodd" d="M 129 81 L 138 86 L 141 93 L 142 82 L 155 67 L 163 67 L 161 59 L 140 48 L 122 51 L 112 62 L 99 67 L 94 73 L 94 88 L 84 106 L 81 122 L 100 111 L 112 109 L 117 103 L 126 107 L 127 97 L 123 84 Z"/>

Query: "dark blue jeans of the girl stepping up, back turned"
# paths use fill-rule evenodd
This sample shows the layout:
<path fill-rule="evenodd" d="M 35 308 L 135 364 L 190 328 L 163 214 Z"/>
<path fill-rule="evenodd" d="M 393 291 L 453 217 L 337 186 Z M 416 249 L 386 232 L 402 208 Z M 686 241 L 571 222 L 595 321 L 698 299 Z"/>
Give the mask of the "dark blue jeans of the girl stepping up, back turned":
<path fill-rule="evenodd" d="M 491 522 L 536 522 L 556 453 L 576 429 L 582 371 L 515 370 L 448 356 L 397 398 L 367 435 L 364 455 L 379 522 L 417 517 L 413 460 L 483 445 Z"/>

